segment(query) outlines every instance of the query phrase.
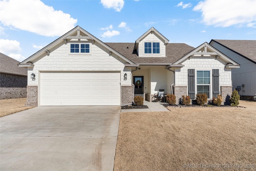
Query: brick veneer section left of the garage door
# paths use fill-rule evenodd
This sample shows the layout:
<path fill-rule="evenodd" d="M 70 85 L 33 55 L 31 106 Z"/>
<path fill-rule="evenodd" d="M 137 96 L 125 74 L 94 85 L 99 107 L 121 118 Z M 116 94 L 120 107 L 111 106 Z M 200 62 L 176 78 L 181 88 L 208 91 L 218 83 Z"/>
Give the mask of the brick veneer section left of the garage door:
<path fill-rule="evenodd" d="M 37 106 L 38 102 L 38 87 L 37 85 L 27 86 L 27 102 L 26 106 Z"/>

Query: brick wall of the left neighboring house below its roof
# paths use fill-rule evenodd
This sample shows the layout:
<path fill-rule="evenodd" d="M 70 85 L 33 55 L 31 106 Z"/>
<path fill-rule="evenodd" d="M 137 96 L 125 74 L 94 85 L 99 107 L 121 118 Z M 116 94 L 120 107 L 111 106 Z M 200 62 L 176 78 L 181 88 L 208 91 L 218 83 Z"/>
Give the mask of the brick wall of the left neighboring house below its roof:
<path fill-rule="evenodd" d="M 27 76 L 0 73 L 0 99 L 26 97 L 27 82 Z"/>

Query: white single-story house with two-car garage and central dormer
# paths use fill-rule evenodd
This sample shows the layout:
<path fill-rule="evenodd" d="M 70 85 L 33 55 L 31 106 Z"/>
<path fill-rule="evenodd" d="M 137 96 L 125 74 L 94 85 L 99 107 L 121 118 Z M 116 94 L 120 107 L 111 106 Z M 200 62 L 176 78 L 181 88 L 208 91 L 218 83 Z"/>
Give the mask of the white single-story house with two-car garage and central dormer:
<path fill-rule="evenodd" d="M 150 28 L 135 43 L 103 43 L 79 26 L 19 64 L 28 68 L 26 105 L 128 105 L 154 93 L 208 98 L 232 93 L 231 69 L 239 65 L 204 43 L 168 43 Z M 139 80 L 139 81 L 138 81 Z"/>

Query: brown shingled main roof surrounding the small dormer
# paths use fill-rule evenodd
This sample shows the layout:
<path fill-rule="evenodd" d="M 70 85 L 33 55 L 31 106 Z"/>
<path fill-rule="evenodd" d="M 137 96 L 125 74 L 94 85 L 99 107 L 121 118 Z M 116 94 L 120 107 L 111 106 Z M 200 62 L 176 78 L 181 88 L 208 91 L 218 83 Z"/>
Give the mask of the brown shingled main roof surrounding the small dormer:
<path fill-rule="evenodd" d="M 168 43 L 166 45 L 166 57 L 143 57 L 139 58 L 137 54 L 133 53 L 134 43 L 106 43 L 108 46 L 131 60 L 136 64 L 154 63 L 154 64 L 173 64 L 179 60 L 184 54 L 193 50 L 192 46 L 184 43 Z"/>

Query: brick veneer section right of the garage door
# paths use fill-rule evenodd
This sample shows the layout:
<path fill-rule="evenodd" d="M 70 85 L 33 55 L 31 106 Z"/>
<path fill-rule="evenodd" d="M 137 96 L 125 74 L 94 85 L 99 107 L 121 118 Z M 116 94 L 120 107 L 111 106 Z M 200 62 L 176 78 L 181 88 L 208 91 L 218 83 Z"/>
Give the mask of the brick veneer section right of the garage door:
<path fill-rule="evenodd" d="M 132 85 L 122 85 L 121 86 L 121 105 L 130 105 L 133 101 L 133 87 Z"/>

